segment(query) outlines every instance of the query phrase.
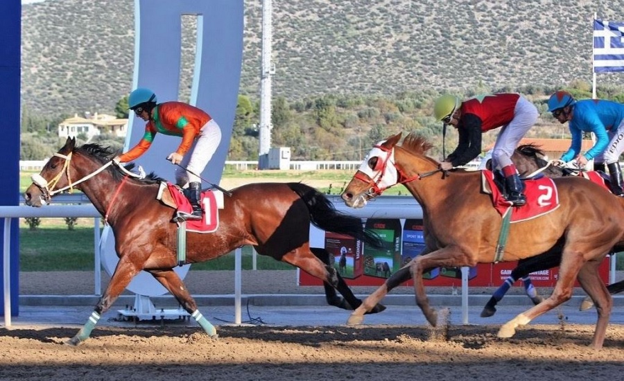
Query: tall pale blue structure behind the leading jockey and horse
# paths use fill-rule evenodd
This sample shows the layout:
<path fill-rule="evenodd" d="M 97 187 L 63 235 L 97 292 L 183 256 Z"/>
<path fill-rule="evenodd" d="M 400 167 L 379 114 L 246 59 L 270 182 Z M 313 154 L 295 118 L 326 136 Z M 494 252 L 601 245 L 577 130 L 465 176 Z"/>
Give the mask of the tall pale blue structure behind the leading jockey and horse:
<path fill-rule="evenodd" d="M 147 87 L 158 102 L 178 100 L 182 62 L 182 16 L 197 17 L 197 41 L 191 105 L 205 110 L 221 128 L 221 143 L 205 170 L 203 179 L 218 184 L 232 137 L 239 82 L 243 63 L 243 0 L 135 0 L 135 73 L 132 89 Z M 132 89 L 127 89 L 128 93 Z M 137 144 L 145 122 L 131 113 L 124 152 Z M 146 172 L 175 181 L 174 169 L 166 157 L 177 149 L 180 139 L 158 134 L 153 145 L 134 162 Z M 203 184 L 207 187 L 207 184 Z M 103 231 L 103 267 L 112 274 L 119 262 L 110 227 Z M 190 265 L 189 265 L 190 266 Z M 176 267 L 184 278 L 189 266 Z M 143 296 L 157 296 L 166 289 L 147 272 L 132 279 L 127 290 Z"/>

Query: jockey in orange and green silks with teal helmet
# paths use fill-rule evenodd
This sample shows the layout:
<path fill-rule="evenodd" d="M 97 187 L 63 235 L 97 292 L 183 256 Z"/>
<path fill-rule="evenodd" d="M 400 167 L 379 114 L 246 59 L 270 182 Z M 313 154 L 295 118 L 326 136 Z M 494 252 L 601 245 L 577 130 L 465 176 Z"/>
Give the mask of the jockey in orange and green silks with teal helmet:
<path fill-rule="evenodd" d="M 147 122 L 145 133 L 135 147 L 115 160 L 125 163 L 141 157 L 150 148 L 158 132 L 180 136 L 182 142 L 167 159 L 187 168 L 188 172 L 176 168 L 175 181 L 182 188 L 189 188 L 193 213 L 187 219 L 200 220 L 201 179 L 198 175 L 216 152 L 221 141 L 220 127 L 209 114 L 198 107 L 176 101 L 157 104 L 156 94 L 150 89 L 139 88 L 132 91 L 128 97 L 128 106 Z"/>

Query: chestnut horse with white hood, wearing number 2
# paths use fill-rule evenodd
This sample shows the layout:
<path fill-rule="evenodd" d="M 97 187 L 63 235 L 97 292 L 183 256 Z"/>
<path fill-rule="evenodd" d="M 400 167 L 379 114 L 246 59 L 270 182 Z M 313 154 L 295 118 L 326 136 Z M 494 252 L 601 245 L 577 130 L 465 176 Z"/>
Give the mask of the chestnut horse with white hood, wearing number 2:
<path fill-rule="evenodd" d="M 480 191 L 480 173 L 441 172 L 438 162 L 425 156 L 431 144 L 414 134 L 397 145 L 401 134 L 390 137 L 370 151 L 343 192 L 347 206 L 361 208 L 368 200 L 395 184 L 404 184 L 422 206 L 425 249 L 399 269 L 352 313 L 348 324 L 361 324 L 363 314 L 393 287 L 414 281 L 416 303 L 435 326 L 437 312 L 424 291 L 422 273 L 435 267 L 474 266 L 492 263 L 502 218 L 490 196 Z M 555 308 L 572 296 L 575 278 L 591 296 L 598 321 L 591 345 L 601 348 L 605 339 L 612 299 L 598 276 L 598 265 L 607 251 L 624 241 L 624 209 L 614 207 L 607 190 L 575 177 L 554 179 L 560 207 L 541 216 L 511 224 L 503 260 L 519 260 L 543 253 L 563 243 L 560 277 L 553 294 L 508 321 L 499 337 L 511 337 L 518 326 Z"/>

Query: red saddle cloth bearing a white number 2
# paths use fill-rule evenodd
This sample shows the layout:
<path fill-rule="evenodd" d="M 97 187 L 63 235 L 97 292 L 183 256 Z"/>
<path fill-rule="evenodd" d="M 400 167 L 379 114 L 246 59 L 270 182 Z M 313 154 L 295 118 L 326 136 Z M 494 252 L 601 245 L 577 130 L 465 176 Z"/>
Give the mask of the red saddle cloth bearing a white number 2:
<path fill-rule="evenodd" d="M 481 171 L 482 188 L 485 193 L 492 195 L 492 204 L 501 215 L 512 207 L 511 203 L 503 198 L 499 187 L 494 183 L 494 173 L 491 170 Z M 484 182 L 485 181 L 485 182 Z M 524 180 L 524 195 L 526 204 L 513 206 L 511 222 L 520 222 L 538 218 L 540 215 L 551 213 L 559 204 L 559 193 L 555 181 L 549 177 L 541 179 Z M 487 186 L 485 186 L 487 183 Z"/>

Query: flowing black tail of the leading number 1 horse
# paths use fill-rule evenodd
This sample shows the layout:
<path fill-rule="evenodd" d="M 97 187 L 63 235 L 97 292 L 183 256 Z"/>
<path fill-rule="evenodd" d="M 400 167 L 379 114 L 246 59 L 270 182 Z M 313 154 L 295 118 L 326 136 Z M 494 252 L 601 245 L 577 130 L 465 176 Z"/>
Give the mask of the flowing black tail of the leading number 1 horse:
<path fill-rule="evenodd" d="M 383 247 L 383 240 L 372 230 L 364 229 L 362 220 L 336 211 L 331 201 L 315 188 L 301 183 L 288 183 L 288 188 L 297 193 L 310 211 L 310 221 L 324 231 L 352 236 L 373 247 Z"/>

